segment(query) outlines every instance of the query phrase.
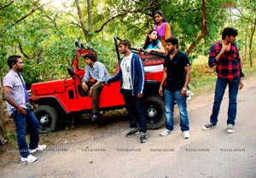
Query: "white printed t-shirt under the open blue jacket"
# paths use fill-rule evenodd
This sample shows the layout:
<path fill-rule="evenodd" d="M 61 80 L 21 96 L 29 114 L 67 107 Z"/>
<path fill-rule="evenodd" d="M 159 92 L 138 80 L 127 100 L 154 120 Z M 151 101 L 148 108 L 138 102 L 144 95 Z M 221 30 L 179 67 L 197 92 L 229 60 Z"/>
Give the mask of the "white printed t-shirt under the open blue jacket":
<path fill-rule="evenodd" d="M 133 89 L 131 80 L 131 57 L 132 53 L 130 55 L 124 56 L 120 64 L 123 78 L 122 89 Z"/>

